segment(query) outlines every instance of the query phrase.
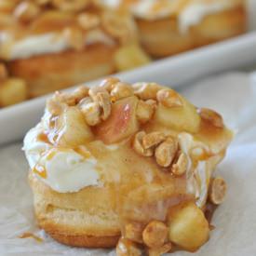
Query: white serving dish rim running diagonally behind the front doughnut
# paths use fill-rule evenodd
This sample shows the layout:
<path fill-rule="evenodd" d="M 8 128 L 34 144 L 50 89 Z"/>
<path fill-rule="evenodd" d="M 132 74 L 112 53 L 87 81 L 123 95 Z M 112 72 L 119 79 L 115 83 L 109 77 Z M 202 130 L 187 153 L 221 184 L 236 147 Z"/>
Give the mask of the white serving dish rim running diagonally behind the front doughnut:
<path fill-rule="evenodd" d="M 187 51 L 175 57 L 115 76 L 127 82 L 154 81 L 173 88 L 199 77 L 232 70 L 256 61 L 256 0 L 249 0 L 251 32 L 208 47 Z M 90 82 L 88 85 L 97 83 Z M 43 114 L 46 96 L 0 110 L 0 144 L 22 139 Z"/>

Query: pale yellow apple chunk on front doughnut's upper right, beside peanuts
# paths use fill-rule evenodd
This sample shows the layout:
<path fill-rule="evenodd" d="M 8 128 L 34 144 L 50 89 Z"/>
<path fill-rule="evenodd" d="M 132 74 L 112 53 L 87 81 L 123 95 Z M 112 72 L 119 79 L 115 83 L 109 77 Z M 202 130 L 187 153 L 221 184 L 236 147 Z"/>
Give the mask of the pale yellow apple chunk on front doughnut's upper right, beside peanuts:
<path fill-rule="evenodd" d="M 193 104 L 182 96 L 182 106 L 165 107 L 159 103 L 155 111 L 155 122 L 167 128 L 195 133 L 200 126 L 200 116 Z"/>

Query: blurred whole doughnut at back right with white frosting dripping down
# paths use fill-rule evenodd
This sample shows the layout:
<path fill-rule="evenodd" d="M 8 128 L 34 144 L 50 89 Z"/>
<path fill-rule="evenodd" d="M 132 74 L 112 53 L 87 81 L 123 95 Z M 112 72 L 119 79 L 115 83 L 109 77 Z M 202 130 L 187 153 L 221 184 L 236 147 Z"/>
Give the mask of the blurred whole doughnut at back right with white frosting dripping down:
<path fill-rule="evenodd" d="M 244 0 L 101 2 L 131 11 L 137 21 L 142 46 L 156 58 L 243 34 L 247 27 Z"/>

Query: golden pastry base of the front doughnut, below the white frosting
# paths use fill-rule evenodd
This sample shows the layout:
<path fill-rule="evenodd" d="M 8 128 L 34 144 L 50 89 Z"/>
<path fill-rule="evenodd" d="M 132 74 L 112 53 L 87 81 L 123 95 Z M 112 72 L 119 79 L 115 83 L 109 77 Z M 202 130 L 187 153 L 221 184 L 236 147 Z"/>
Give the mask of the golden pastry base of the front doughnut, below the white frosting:
<path fill-rule="evenodd" d="M 29 182 L 34 192 L 37 222 L 49 236 L 69 246 L 115 247 L 120 237 L 118 218 L 103 188 L 87 187 L 77 193 L 61 194 L 32 173 Z"/>

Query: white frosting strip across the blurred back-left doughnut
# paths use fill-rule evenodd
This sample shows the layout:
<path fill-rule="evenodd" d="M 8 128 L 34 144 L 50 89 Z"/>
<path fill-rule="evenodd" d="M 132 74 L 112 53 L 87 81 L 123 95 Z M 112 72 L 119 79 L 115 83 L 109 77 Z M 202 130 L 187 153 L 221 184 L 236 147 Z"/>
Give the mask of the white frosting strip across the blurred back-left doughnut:
<path fill-rule="evenodd" d="M 8 44 L 7 36 L 0 36 L 0 44 L 1 41 L 4 44 Z M 115 44 L 111 37 L 104 34 L 99 29 L 88 32 L 85 37 L 85 46 L 94 43 L 103 43 L 106 45 Z M 58 53 L 70 48 L 68 39 L 56 33 L 32 35 L 14 43 L 10 41 L 10 45 L 10 48 L 7 46 L 7 56 L 5 56 L 5 52 L 0 52 L 0 54 L 4 55 L 3 57 L 8 60 L 26 59 L 47 53 Z M 5 51 L 5 48 L 4 46 L 3 51 Z"/>

